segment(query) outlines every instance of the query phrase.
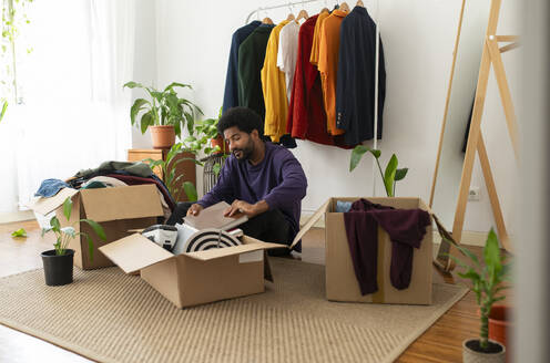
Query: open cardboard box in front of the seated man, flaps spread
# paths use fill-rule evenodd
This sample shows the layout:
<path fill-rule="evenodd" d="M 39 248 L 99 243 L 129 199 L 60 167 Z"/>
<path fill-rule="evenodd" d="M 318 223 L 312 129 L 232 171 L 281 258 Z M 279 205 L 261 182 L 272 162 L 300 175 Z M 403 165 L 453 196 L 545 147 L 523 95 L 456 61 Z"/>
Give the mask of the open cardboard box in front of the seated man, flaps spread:
<path fill-rule="evenodd" d="M 143 280 L 181 309 L 264 292 L 264 277 L 271 277 L 264 250 L 283 246 L 248 236 L 241 241 L 241 246 L 173 255 L 134 234 L 100 250 L 124 272 L 140 271 Z"/>

